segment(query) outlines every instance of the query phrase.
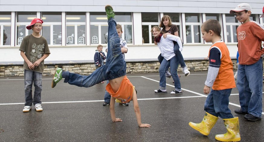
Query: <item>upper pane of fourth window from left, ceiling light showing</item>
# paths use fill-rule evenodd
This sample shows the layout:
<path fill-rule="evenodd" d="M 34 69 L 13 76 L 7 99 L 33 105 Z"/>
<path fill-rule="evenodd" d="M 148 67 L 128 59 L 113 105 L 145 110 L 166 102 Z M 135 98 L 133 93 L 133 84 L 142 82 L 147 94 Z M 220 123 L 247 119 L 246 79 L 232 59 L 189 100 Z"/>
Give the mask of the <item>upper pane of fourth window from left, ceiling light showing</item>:
<path fill-rule="evenodd" d="M 66 22 L 85 22 L 85 12 L 66 12 Z"/>

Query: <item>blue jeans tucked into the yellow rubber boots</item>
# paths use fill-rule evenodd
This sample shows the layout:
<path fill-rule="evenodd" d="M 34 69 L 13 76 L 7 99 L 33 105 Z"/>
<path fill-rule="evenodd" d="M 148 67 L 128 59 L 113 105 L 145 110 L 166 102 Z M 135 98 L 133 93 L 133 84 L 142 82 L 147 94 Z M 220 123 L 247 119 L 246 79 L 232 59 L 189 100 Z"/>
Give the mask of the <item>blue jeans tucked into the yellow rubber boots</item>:
<path fill-rule="evenodd" d="M 204 110 L 213 116 L 222 119 L 234 118 L 228 108 L 231 89 L 211 90 L 204 103 Z"/>

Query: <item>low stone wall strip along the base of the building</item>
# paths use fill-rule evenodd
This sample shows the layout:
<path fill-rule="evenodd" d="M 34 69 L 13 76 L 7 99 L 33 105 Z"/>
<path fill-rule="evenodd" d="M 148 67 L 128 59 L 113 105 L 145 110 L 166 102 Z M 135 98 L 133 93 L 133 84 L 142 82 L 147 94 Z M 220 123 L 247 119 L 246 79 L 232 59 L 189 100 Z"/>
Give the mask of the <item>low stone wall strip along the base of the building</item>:
<path fill-rule="evenodd" d="M 233 68 L 236 70 L 236 59 L 233 59 L 232 62 Z M 189 71 L 207 71 L 209 62 L 208 60 L 186 60 L 185 64 Z M 89 75 L 96 69 L 94 63 L 44 64 L 43 76 L 53 75 L 57 67 L 81 75 Z M 157 61 L 126 62 L 126 67 L 128 74 L 152 73 L 158 72 L 160 63 Z M 180 67 L 178 71 L 181 72 Z M 0 77 L 8 76 L 24 76 L 23 65 L 0 65 Z"/>

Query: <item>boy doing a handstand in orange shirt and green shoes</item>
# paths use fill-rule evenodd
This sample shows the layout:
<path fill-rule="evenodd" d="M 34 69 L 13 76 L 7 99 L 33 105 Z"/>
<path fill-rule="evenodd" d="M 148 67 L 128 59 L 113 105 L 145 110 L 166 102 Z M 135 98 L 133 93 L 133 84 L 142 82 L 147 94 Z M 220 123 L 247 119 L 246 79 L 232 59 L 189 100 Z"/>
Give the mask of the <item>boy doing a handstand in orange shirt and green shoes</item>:
<path fill-rule="evenodd" d="M 108 52 L 106 64 L 95 70 L 89 76 L 82 76 L 80 74 L 70 73 L 69 71 L 63 71 L 61 68 L 57 68 L 51 87 L 54 88 L 62 78 L 65 78 L 65 83 L 68 82 L 71 85 L 76 85 L 79 87 L 92 87 L 99 82 L 109 80 L 106 90 L 111 95 L 110 113 L 112 121 L 122 121 L 120 118 L 116 118 L 114 108 L 115 100 L 118 99 L 121 103 L 129 103 L 131 100 L 133 100 L 134 110 L 139 127 L 150 127 L 149 124 L 141 123 L 137 93 L 135 87 L 125 75 L 126 63 L 121 52 L 120 37 L 116 31 L 116 21 L 114 19 L 115 12 L 110 5 L 106 5 L 105 9 L 108 18 Z"/>

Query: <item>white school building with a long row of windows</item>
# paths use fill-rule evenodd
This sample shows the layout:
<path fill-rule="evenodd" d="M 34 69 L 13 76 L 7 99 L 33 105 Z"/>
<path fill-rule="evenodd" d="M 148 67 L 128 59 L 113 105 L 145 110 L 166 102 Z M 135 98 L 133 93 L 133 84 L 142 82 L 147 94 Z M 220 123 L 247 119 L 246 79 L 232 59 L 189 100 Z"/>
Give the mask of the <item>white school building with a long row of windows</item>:
<path fill-rule="evenodd" d="M 123 27 L 122 38 L 128 43 L 126 61 L 157 60 L 160 51 L 154 45 L 151 27 L 158 26 L 163 15 L 169 15 L 179 28 L 186 60 L 207 57 L 212 43 L 206 43 L 200 31 L 208 19 L 222 25 L 222 40 L 230 56 L 236 57 L 236 28 L 241 24 L 229 14 L 242 1 L 237 0 L 41 0 L 0 1 L 0 64 L 22 64 L 18 50 L 25 36 L 32 33 L 26 26 L 41 18 L 41 35 L 47 39 L 51 55 L 45 63 L 93 62 L 98 44 L 105 51 L 107 18 L 105 5 L 112 5 L 115 19 Z M 264 6 L 261 0 L 251 0 L 251 20 L 259 18 Z"/>

